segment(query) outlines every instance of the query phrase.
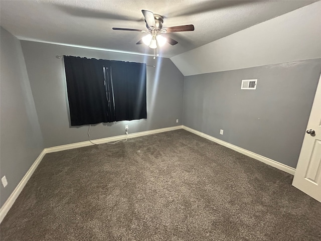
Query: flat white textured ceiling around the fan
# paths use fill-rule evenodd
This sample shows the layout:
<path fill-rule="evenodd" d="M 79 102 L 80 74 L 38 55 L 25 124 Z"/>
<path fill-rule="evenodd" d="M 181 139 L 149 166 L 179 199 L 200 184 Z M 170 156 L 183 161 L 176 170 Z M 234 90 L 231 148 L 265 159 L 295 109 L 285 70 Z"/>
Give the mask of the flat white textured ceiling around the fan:
<path fill-rule="evenodd" d="M 173 57 L 316 1 L 6 1 L 0 0 L 3 28 L 22 40 L 152 54 L 136 45 L 145 30 L 141 10 L 165 17 L 163 27 L 193 24 L 195 31 L 168 33 L 175 46 L 160 49 Z"/>

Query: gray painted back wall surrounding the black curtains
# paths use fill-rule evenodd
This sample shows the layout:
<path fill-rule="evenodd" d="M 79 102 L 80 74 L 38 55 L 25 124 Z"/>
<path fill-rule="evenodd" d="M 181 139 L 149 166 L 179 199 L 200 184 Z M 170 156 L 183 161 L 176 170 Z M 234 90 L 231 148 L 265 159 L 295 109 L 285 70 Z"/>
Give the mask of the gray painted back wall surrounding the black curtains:
<path fill-rule="evenodd" d="M 45 147 L 88 141 L 88 126 L 70 127 L 63 60 L 56 55 L 144 62 L 147 67 L 147 119 L 98 124 L 91 139 L 182 125 L 184 76 L 170 59 L 22 41 Z M 179 123 L 176 123 L 179 119 Z"/>

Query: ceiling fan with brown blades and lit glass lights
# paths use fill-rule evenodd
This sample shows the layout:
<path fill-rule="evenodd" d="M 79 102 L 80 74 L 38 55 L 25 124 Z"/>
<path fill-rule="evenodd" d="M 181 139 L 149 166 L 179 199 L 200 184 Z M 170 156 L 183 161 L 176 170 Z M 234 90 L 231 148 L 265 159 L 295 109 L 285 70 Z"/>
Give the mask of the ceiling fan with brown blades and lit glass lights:
<path fill-rule="evenodd" d="M 151 49 L 158 50 L 158 46 L 164 46 L 167 42 L 171 45 L 176 45 L 178 42 L 170 37 L 164 37 L 163 34 L 174 33 L 174 32 L 185 32 L 194 31 L 194 25 L 181 25 L 163 28 L 164 17 L 158 14 L 153 14 L 147 10 L 141 10 L 146 23 L 147 30 L 140 29 L 126 29 L 126 28 L 112 28 L 113 30 L 124 30 L 124 31 L 138 31 L 141 33 L 148 33 L 142 37 L 136 44 L 145 44 Z M 158 54 L 157 54 L 158 56 Z M 154 56 L 155 58 L 155 56 Z"/>

